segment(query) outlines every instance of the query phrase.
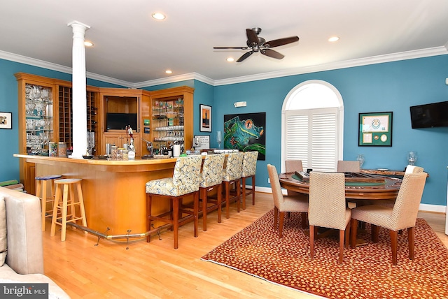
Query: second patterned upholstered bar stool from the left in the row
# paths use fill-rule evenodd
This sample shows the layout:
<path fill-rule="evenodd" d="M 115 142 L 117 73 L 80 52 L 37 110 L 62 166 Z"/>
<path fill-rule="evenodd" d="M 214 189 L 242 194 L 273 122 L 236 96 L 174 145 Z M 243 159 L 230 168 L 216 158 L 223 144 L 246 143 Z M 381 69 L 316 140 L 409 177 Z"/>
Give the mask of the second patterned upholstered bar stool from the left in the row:
<path fill-rule="evenodd" d="M 202 164 L 199 184 L 200 200 L 202 200 L 202 231 L 207 231 L 208 212 L 218 210 L 218 223 L 221 223 L 224 159 L 225 154 L 209 154 L 205 156 Z M 216 190 L 216 199 L 209 199 L 209 192 L 214 190 Z"/>

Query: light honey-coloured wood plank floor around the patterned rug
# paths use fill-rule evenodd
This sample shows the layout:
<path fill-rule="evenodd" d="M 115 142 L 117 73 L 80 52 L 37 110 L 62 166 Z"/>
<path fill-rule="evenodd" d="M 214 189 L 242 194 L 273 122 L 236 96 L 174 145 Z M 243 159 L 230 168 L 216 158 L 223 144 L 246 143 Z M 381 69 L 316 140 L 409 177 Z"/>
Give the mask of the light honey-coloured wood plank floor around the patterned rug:
<path fill-rule="evenodd" d="M 255 206 L 248 204 L 221 224 L 216 211 L 209 214 L 207 232 L 193 237 L 193 224 L 179 231 L 179 249 L 173 248 L 172 232 L 162 240 L 116 243 L 99 240 L 79 230 L 67 229 L 50 237 L 50 222 L 43 232 L 45 275 L 71 298 L 316 298 L 293 291 L 237 270 L 201 261 L 207 252 L 228 240 L 274 207 L 271 194 L 256 194 Z M 444 214 L 420 212 L 448 247 Z M 104 229 L 106 231 L 106 228 Z M 131 232 L 140 233 L 140 232 Z"/>

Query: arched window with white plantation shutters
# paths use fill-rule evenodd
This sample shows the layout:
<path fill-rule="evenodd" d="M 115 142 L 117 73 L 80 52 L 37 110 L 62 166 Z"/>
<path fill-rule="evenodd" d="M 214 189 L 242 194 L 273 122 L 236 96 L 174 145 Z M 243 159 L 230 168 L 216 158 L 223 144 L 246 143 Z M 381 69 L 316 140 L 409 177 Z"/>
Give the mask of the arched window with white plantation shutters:
<path fill-rule="evenodd" d="M 342 160 L 344 103 L 330 83 L 309 80 L 286 96 L 281 110 L 281 170 L 286 160 L 303 168 L 335 171 Z"/>

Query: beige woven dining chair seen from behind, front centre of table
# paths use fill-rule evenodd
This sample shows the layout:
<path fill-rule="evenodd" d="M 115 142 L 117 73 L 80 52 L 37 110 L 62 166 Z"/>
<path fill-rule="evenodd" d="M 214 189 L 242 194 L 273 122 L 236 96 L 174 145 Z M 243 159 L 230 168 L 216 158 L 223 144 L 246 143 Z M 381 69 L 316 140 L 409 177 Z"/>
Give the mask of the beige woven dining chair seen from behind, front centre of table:
<path fill-rule="evenodd" d="M 345 203 L 344 173 L 309 174 L 309 251 L 314 257 L 316 227 L 339 230 L 339 263 L 342 263 L 345 245 L 349 247 L 351 210 Z"/>

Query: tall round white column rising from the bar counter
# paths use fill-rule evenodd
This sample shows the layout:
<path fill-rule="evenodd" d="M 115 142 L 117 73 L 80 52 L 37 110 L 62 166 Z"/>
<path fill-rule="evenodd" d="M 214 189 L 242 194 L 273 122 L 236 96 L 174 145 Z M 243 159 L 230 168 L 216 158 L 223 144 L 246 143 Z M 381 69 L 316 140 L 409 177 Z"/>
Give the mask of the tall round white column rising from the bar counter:
<path fill-rule="evenodd" d="M 73 21 L 67 24 L 73 29 L 72 49 L 72 82 L 73 82 L 73 154 L 71 158 L 83 159 L 87 151 L 87 100 L 86 100 L 86 78 L 85 78 L 85 31 L 90 26 Z"/>

